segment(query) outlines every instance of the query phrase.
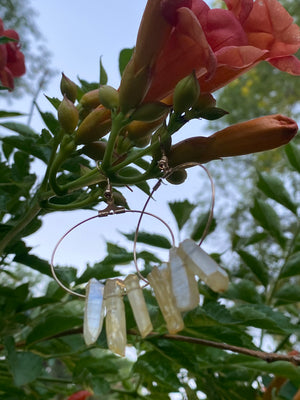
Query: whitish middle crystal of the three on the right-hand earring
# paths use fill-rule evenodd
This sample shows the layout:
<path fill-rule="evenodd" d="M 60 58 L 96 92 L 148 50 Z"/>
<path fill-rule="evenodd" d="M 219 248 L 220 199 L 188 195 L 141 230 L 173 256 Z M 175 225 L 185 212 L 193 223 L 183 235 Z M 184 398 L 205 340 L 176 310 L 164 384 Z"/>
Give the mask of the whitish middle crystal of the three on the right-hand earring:
<path fill-rule="evenodd" d="M 179 311 L 193 310 L 199 304 L 198 284 L 194 274 L 177 254 L 176 248 L 170 250 L 169 266 L 177 308 Z"/>

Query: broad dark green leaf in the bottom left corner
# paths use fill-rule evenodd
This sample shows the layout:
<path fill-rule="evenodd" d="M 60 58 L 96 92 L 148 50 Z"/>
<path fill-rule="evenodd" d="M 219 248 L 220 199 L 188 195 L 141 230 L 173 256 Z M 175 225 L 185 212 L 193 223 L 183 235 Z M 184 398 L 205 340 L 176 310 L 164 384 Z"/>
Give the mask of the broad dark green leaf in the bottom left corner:
<path fill-rule="evenodd" d="M 33 382 L 41 375 L 43 359 L 40 356 L 27 351 L 16 352 L 11 337 L 5 339 L 5 349 L 16 386 Z"/>

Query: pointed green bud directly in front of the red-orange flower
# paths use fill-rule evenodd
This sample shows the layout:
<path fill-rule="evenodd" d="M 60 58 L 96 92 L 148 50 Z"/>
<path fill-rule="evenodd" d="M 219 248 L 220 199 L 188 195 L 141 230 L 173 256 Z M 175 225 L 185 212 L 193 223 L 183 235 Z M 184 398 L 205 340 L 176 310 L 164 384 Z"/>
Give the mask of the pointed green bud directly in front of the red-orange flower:
<path fill-rule="evenodd" d="M 181 114 L 196 103 L 200 95 L 200 86 L 195 71 L 181 79 L 175 87 L 173 95 L 174 111 Z"/>

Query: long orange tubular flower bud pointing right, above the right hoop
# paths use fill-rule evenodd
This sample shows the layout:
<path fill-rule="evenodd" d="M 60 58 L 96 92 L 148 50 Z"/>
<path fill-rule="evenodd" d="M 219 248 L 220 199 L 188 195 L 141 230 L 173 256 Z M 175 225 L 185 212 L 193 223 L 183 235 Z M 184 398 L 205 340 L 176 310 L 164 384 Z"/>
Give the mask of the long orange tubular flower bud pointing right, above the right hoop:
<path fill-rule="evenodd" d="M 295 121 L 280 114 L 231 125 L 210 137 L 193 137 L 172 146 L 169 165 L 206 163 L 222 157 L 240 156 L 275 149 L 297 133 Z"/>

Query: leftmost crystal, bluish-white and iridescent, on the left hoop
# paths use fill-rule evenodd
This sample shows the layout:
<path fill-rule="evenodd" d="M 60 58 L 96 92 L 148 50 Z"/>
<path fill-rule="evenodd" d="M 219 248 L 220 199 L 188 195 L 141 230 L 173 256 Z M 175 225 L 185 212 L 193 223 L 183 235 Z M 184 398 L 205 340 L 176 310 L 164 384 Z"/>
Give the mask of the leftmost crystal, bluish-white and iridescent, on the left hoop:
<path fill-rule="evenodd" d="M 86 287 L 83 323 L 83 337 L 88 346 L 96 342 L 102 330 L 105 308 L 103 291 L 102 283 L 95 278 L 90 279 Z"/>

